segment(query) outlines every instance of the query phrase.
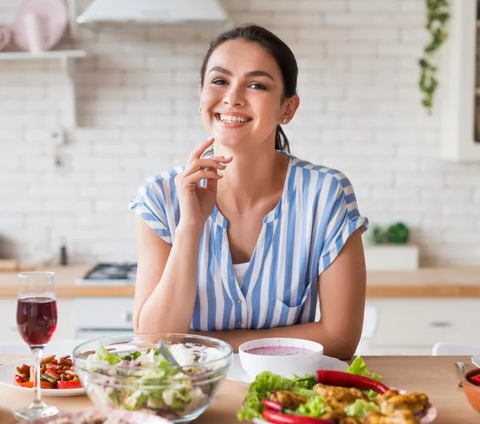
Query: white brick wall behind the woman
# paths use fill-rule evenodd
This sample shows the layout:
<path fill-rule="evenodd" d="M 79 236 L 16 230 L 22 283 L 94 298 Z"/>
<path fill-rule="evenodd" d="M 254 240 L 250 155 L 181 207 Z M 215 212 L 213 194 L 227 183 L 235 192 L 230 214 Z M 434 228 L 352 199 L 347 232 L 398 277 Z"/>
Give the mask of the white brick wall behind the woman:
<path fill-rule="evenodd" d="M 410 224 L 422 265 L 478 265 L 480 164 L 441 161 L 441 99 L 432 116 L 420 106 L 424 0 L 222 2 L 236 23 L 269 27 L 297 56 L 293 153 L 345 172 L 372 223 Z M 10 24 L 21 0 L 1 3 L 0 24 Z M 78 69 L 81 126 L 61 149 L 62 169 L 49 135 L 62 113 L 58 65 L 0 62 L 4 253 L 48 260 L 66 240 L 76 262 L 135 260 L 128 201 L 205 137 L 197 83 L 213 35 L 81 28 L 77 40 L 64 40 L 60 47 L 88 57 Z"/>

